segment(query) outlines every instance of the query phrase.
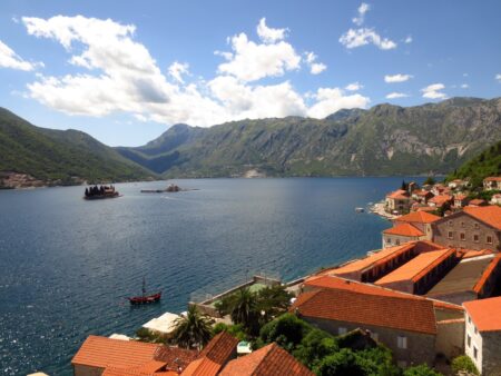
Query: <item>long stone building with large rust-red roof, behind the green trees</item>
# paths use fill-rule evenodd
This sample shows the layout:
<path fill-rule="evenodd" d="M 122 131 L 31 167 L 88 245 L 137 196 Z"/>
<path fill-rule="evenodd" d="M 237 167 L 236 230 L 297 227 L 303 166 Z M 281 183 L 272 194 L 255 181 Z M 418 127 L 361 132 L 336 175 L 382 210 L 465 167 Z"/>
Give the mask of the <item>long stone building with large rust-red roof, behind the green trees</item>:
<path fill-rule="evenodd" d="M 333 335 L 370 333 L 402 367 L 432 365 L 436 344 L 448 357 L 463 344 L 462 336 L 458 342 L 452 330 L 438 329 L 441 320 L 462 318 L 461 307 L 333 276 L 307 279 L 291 310 Z"/>

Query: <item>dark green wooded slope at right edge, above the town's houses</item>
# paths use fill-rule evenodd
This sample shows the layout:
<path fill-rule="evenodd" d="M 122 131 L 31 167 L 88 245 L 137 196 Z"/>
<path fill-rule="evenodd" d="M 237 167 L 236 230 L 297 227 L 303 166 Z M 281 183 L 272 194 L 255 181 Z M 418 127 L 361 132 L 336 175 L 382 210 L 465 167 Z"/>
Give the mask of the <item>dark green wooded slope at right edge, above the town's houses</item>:
<path fill-rule="evenodd" d="M 489 176 L 501 176 L 501 140 L 466 161 L 446 180 L 470 178 L 473 187 L 480 187 Z"/>

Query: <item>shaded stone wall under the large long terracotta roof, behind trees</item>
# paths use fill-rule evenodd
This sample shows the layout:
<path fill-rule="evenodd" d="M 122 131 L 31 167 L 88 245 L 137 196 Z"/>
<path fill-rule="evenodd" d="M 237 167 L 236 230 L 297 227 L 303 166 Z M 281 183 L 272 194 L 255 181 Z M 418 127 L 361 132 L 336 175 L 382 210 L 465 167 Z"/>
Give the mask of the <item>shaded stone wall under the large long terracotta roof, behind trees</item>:
<path fill-rule="evenodd" d="M 396 362 L 406 366 L 420 365 L 426 363 L 432 366 L 435 359 L 435 336 L 431 334 L 420 334 L 406 330 L 391 329 L 376 327 L 371 325 L 356 325 L 353 323 L 328 320 L 314 317 L 301 316 L 305 321 L 328 332 L 335 336 L 340 334 L 340 328 L 345 328 L 347 332 L 362 329 L 370 330 L 371 336 L 386 345 L 392 352 Z M 407 348 L 399 348 L 397 337 L 406 337 Z"/>

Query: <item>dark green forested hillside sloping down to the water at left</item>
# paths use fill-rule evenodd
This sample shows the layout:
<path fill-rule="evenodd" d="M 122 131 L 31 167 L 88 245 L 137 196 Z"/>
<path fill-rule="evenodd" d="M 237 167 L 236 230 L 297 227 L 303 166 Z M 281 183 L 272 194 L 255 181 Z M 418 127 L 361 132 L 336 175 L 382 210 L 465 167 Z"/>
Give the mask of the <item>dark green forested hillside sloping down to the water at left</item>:
<path fill-rule="evenodd" d="M 77 130 L 30 125 L 0 108 L 0 171 L 28 174 L 48 184 L 145 179 L 150 171 Z"/>

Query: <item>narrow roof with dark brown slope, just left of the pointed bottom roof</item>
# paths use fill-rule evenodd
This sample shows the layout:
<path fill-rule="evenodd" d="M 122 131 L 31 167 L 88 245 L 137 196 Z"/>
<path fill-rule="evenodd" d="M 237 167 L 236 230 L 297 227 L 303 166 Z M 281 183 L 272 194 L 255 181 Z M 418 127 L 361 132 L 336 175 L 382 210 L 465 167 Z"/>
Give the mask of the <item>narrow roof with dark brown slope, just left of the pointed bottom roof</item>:
<path fill-rule="evenodd" d="M 205 346 L 200 353 L 199 359 L 189 364 L 183 372 L 183 376 L 213 376 L 217 375 L 220 368 L 229 360 L 229 358 L 236 353 L 238 339 L 228 334 L 222 332 L 217 334 Z"/>

